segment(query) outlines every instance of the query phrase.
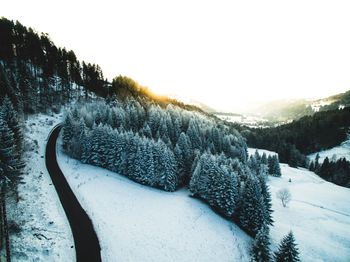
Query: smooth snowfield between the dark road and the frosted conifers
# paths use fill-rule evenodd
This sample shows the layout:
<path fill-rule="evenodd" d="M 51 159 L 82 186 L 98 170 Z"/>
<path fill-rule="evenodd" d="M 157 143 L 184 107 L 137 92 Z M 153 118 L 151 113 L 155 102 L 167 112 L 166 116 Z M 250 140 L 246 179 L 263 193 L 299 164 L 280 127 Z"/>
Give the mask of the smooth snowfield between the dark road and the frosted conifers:
<path fill-rule="evenodd" d="M 251 238 L 187 190 L 167 193 L 63 153 L 58 159 L 104 261 L 249 261 Z"/>

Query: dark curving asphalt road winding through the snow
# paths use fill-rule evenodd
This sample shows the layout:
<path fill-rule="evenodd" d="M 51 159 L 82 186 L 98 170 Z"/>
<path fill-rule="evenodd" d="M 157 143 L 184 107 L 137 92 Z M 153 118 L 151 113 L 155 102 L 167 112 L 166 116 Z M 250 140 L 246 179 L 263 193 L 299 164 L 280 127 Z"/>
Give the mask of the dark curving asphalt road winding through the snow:
<path fill-rule="evenodd" d="M 57 163 L 56 141 L 61 128 L 61 125 L 57 125 L 49 135 L 45 153 L 46 168 L 55 185 L 73 233 L 77 261 L 101 261 L 101 248 L 91 220 L 75 197 Z"/>

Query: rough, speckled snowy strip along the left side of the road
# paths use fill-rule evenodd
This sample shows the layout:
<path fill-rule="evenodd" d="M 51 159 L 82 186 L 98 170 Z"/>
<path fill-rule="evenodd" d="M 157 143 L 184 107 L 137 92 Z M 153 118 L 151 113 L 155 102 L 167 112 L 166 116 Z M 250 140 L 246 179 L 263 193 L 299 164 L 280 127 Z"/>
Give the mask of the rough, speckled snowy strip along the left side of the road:
<path fill-rule="evenodd" d="M 26 167 L 20 200 L 8 203 L 9 220 L 20 228 L 10 235 L 13 261 L 75 261 L 74 240 L 44 158 L 47 136 L 61 118 L 40 114 L 25 123 Z"/>

